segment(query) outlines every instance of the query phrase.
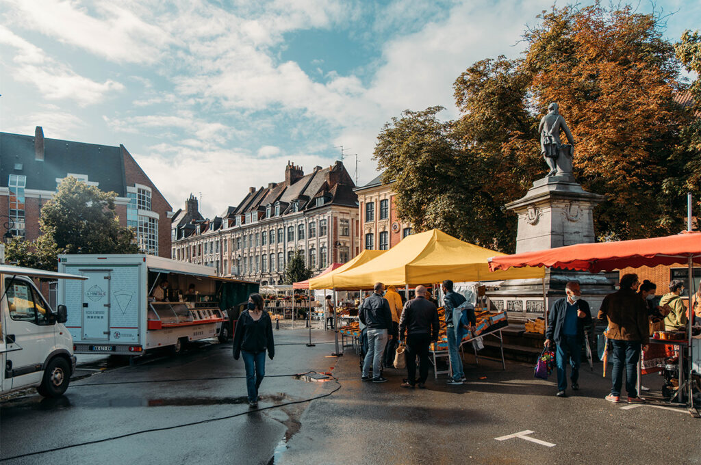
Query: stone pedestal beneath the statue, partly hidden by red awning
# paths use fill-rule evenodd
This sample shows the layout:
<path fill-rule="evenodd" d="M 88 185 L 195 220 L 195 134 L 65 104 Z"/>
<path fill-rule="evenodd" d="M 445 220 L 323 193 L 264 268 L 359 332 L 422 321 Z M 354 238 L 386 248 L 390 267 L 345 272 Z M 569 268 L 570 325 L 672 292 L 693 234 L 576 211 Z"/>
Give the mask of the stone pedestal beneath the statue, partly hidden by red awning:
<path fill-rule="evenodd" d="M 561 157 L 562 158 L 562 157 Z M 559 165 L 558 165 L 558 168 Z M 594 242 L 594 207 L 604 196 L 586 192 L 571 174 L 562 173 L 538 179 L 519 200 L 506 205 L 519 216 L 516 253 L 552 249 L 572 244 Z M 511 279 L 497 291 L 489 292 L 494 307 L 503 307 L 512 321 L 542 317 L 544 308 L 565 296 L 565 284 L 580 282 L 582 296 L 590 303 L 596 316 L 601 300 L 613 291 L 612 279 L 604 273 L 548 270 L 540 279 Z"/>

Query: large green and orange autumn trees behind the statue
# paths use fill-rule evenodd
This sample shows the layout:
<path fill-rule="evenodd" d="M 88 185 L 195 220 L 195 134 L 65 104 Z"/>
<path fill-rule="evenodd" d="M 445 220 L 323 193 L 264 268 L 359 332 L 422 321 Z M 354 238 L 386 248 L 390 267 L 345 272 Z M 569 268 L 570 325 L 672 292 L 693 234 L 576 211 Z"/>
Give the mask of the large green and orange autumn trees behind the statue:
<path fill-rule="evenodd" d="M 383 127 L 374 155 L 385 180 L 397 181 L 400 216 L 418 230 L 512 251 L 516 216 L 504 204 L 547 172 L 538 121 L 558 102 L 577 142 L 578 182 L 606 197 L 594 210 L 599 236 L 678 231 L 689 160 L 701 167 L 688 143 L 697 123 L 675 100 L 684 89 L 679 60 L 701 66 L 701 39 L 685 38 L 675 55 L 660 18 L 630 6 L 544 11 L 524 32 L 520 57 L 480 60 L 458 76 L 458 120 L 442 122 L 431 107 Z"/>

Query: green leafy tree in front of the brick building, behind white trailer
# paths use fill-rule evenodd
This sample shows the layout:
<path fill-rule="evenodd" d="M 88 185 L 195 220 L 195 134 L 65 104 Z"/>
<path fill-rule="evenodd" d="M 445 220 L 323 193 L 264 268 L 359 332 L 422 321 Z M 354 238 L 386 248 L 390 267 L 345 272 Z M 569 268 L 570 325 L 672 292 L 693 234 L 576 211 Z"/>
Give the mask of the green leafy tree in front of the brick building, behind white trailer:
<path fill-rule="evenodd" d="M 13 240 L 8 261 L 56 270 L 58 254 L 137 254 L 134 231 L 119 225 L 114 197 L 72 176 L 64 179 L 41 208 L 39 239 Z"/>

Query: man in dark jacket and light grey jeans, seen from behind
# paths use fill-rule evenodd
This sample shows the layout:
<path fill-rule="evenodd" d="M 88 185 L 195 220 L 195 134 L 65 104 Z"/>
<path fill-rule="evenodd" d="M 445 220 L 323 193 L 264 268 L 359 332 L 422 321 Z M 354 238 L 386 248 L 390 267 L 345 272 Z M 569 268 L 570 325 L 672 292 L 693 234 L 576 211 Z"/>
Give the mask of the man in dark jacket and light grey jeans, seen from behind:
<path fill-rule="evenodd" d="M 374 293 L 362 301 L 358 309 L 360 322 L 367 326 L 367 354 L 362 363 L 362 380 L 386 382 L 382 377 L 382 354 L 387 344 L 387 333 L 392 327 L 392 314 L 387 299 L 382 296 L 385 285 L 381 282 L 374 286 Z M 370 365 L 372 364 L 372 377 Z"/>

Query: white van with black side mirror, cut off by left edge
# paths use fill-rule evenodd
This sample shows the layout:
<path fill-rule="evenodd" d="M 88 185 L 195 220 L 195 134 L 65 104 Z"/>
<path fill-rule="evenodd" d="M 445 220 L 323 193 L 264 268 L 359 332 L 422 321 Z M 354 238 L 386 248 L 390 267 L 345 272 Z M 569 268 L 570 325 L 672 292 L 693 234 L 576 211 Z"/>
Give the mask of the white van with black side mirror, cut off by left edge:
<path fill-rule="evenodd" d="M 36 387 L 42 396 L 59 397 L 76 367 L 73 341 L 64 326 L 67 308 L 58 305 L 54 312 L 34 286 L 33 277 L 85 279 L 0 265 L 0 394 Z"/>

